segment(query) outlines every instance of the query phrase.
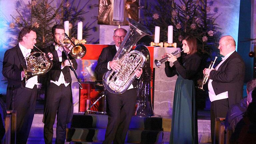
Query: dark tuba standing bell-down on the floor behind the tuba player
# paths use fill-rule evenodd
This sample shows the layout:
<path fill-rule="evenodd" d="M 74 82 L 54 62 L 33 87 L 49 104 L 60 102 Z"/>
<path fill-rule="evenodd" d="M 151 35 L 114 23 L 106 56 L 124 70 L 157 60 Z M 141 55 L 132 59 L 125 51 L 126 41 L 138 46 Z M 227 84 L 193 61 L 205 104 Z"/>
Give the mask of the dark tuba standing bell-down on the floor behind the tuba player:
<path fill-rule="evenodd" d="M 138 81 L 137 89 L 137 108 L 135 115 L 139 117 L 151 117 L 154 115 L 151 103 L 151 68 L 150 68 L 150 53 L 145 45 L 138 45 L 135 50 L 142 52 L 146 57 L 146 62 L 143 69 L 143 77 Z"/>

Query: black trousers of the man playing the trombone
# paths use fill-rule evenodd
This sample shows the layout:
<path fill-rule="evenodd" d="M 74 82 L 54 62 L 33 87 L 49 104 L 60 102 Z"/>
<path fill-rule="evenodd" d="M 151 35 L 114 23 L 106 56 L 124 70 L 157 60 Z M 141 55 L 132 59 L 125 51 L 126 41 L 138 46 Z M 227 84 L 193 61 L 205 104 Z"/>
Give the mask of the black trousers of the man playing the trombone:
<path fill-rule="evenodd" d="M 66 123 L 69 108 L 71 106 L 71 88 L 64 84 L 57 86 L 50 83 L 46 90 L 44 112 L 44 141 L 52 144 L 53 125 L 57 114 L 56 144 L 64 144 L 66 138 Z"/>

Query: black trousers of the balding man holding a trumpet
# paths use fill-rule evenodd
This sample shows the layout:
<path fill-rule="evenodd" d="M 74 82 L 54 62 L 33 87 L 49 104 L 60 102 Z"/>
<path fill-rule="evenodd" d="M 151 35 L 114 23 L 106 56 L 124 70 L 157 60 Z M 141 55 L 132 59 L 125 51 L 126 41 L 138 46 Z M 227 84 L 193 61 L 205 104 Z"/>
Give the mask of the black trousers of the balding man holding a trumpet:
<path fill-rule="evenodd" d="M 214 141 L 215 118 L 225 118 L 229 109 L 228 99 L 221 99 L 211 102 L 211 138 Z M 219 142 L 216 142 L 218 144 Z"/>

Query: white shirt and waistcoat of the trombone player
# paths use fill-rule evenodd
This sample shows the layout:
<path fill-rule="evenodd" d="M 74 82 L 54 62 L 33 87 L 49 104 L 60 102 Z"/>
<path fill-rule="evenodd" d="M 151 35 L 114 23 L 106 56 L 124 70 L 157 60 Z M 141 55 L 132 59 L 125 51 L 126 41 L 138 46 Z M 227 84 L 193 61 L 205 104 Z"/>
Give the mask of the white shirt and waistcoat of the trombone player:
<path fill-rule="evenodd" d="M 62 47 L 59 47 L 58 45 L 55 45 L 55 50 L 56 50 L 57 53 L 58 53 L 59 61 L 62 62 L 62 51 L 63 51 Z M 63 69 L 63 68 L 64 68 L 64 67 L 62 67 L 62 65 L 61 65 L 61 69 Z M 60 77 L 59 77 L 58 81 L 53 81 L 53 80 L 51 80 L 50 82 L 56 84 L 57 86 L 60 86 L 61 84 L 64 84 L 65 87 L 67 87 L 67 86 L 69 85 L 69 83 L 67 83 L 67 82 L 65 81 L 64 75 L 63 75 L 62 72 L 60 72 Z"/>

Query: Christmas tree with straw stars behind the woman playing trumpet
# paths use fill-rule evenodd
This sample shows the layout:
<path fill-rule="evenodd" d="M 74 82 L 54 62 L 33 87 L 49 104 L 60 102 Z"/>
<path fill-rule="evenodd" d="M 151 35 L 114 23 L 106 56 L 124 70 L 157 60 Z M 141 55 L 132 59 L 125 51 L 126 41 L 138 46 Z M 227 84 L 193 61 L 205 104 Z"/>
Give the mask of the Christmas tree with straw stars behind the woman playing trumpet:
<path fill-rule="evenodd" d="M 213 1 L 207 0 L 157 0 L 155 4 L 142 1 L 143 16 L 141 22 L 154 31 L 155 26 L 161 30 L 160 40 L 167 42 L 168 26 L 173 26 L 173 42 L 182 47 L 186 36 L 194 36 L 198 42 L 198 51 L 210 55 L 218 47 L 221 33 L 215 23 L 218 9 L 210 13 Z"/>

